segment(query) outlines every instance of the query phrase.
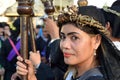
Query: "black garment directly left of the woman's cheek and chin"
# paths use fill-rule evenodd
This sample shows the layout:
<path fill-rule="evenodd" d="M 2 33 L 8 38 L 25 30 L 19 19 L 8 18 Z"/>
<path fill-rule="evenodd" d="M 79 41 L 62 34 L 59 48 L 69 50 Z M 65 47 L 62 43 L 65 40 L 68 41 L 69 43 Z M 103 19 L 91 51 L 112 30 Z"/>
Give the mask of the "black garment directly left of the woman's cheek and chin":
<path fill-rule="evenodd" d="M 49 62 L 51 64 L 52 71 L 55 73 L 55 79 L 63 80 L 64 73 L 68 66 L 64 63 L 63 53 L 60 50 L 60 39 L 49 44 L 47 58 L 50 59 Z"/>

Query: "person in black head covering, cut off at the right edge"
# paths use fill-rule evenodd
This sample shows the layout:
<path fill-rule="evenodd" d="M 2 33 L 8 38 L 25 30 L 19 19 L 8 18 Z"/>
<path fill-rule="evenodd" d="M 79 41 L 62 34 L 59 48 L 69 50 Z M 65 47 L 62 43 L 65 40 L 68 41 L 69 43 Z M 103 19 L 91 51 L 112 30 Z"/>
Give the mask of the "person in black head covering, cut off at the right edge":
<path fill-rule="evenodd" d="M 103 8 L 106 28 L 109 30 L 108 36 L 120 50 L 120 0 L 113 2 L 111 7 Z"/>

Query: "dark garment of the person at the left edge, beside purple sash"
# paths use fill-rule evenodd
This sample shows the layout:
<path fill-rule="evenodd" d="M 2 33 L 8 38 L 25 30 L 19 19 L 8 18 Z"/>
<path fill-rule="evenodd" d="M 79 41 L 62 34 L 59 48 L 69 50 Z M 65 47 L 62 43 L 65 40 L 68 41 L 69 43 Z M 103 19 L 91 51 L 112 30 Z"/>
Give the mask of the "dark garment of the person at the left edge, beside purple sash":
<path fill-rule="evenodd" d="M 12 39 L 13 42 L 16 44 L 17 40 Z M 16 56 L 11 60 L 8 61 L 7 57 L 9 52 L 11 51 L 12 46 L 9 42 L 9 40 L 5 40 L 2 46 L 2 51 L 0 54 L 0 64 L 5 68 L 5 74 L 4 74 L 4 80 L 11 80 L 11 76 L 13 73 L 16 72 Z"/>

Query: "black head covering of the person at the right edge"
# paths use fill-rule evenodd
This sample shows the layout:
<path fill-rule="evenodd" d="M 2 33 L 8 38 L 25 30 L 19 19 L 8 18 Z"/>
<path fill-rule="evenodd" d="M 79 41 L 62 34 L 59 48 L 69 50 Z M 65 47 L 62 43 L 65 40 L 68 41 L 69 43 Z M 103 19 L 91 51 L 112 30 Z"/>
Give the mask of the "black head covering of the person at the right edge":
<path fill-rule="evenodd" d="M 103 13 L 105 21 L 110 22 L 112 36 L 120 38 L 120 16 L 118 15 L 120 13 L 120 1 L 116 0 L 108 9 L 103 8 Z"/>

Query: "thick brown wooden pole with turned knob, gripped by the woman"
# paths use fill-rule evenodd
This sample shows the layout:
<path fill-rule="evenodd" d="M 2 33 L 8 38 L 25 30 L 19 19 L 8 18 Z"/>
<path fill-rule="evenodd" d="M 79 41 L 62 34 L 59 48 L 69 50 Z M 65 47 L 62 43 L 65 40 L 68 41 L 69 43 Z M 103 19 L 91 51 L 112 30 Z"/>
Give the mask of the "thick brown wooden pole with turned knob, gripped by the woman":
<path fill-rule="evenodd" d="M 28 59 L 28 26 L 30 25 L 30 16 L 33 15 L 33 0 L 17 0 L 17 12 L 20 15 L 20 33 L 21 33 L 21 55 L 23 59 Z M 32 27 L 32 26 L 31 26 Z M 35 46 L 35 45 L 33 45 Z M 23 76 L 22 80 L 27 80 L 28 76 Z"/>

